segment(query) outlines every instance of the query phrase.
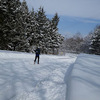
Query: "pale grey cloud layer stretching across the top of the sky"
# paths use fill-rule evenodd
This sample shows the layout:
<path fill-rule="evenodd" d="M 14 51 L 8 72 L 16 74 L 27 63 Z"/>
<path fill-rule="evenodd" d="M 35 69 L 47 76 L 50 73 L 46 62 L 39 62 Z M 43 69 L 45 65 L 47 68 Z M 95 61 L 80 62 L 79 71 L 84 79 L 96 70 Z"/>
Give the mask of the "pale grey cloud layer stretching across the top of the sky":
<path fill-rule="evenodd" d="M 21 0 L 22 1 L 22 0 Z M 26 0 L 29 8 L 44 7 L 46 14 L 100 19 L 100 0 Z"/>

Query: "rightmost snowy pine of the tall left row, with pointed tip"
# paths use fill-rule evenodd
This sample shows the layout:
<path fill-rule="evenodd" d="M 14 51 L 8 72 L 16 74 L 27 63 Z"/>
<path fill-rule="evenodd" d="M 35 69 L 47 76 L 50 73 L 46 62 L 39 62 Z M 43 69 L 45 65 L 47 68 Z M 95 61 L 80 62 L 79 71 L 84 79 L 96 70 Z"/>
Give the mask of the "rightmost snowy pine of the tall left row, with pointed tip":
<path fill-rule="evenodd" d="M 51 30 L 50 30 L 50 33 L 51 33 L 51 45 L 50 45 L 50 47 L 51 47 L 53 54 L 58 53 L 58 48 L 64 39 L 63 36 L 61 36 L 58 33 L 58 27 L 57 27 L 58 22 L 59 22 L 59 17 L 58 17 L 58 14 L 56 13 L 51 20 Z"/>

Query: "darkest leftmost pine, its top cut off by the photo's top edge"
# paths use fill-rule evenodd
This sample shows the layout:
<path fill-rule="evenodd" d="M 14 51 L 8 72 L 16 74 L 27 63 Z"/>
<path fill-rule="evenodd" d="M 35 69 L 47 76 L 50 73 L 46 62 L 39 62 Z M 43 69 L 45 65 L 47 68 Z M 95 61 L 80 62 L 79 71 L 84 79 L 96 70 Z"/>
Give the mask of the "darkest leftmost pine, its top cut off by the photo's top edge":
<path fill-rule="evenodd" d="M 1 0 L 1 9 L 4 14 L 4 18 L 2 20 L 1 33 L 2 33 L 2 41 L 1 48 L 9 49 L 12 35 L 14 35 L 14 17 L 15 17 L 15 9 L 16 9 L 16 0 Z M 3 44 L 3 46 L 2 46 Z"/>

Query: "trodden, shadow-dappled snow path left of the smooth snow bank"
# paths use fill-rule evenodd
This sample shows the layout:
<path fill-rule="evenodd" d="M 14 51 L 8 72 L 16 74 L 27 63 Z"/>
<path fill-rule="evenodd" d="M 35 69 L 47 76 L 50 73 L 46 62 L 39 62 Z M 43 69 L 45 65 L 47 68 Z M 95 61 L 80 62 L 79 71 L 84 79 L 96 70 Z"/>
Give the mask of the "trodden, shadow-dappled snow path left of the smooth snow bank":
<path fill-rule="evenodd" d="M 76 55 L 34 55 L 0 51 L 0 100 L 65 100 L 65 73 Z"/>

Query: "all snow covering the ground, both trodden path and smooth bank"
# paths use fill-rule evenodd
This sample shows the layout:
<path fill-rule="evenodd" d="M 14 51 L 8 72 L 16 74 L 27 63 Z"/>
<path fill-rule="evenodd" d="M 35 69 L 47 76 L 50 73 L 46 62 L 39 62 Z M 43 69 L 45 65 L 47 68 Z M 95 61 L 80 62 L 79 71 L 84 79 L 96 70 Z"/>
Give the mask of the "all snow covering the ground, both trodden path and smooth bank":
<path fill-rule="evenodd" d="M 0 51 L 0 100 L 100 100 L 100 56 Z"/>

